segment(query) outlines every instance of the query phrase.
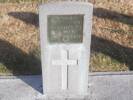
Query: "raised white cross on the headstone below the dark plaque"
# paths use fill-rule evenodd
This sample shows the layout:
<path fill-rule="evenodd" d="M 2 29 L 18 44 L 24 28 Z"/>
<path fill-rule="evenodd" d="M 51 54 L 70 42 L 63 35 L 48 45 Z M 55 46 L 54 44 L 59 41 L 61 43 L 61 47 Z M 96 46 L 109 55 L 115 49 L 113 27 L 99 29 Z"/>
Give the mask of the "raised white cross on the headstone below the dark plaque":
<path fill-rule="evenodd" d="M 78 60 L 69 59 L 69 50 L 61 51 L 61 60 L 53 60 L 52 65 L 62 67 L 62 89 L 68 89 L 68 69 L 69 66 L 78 65 Z"/>

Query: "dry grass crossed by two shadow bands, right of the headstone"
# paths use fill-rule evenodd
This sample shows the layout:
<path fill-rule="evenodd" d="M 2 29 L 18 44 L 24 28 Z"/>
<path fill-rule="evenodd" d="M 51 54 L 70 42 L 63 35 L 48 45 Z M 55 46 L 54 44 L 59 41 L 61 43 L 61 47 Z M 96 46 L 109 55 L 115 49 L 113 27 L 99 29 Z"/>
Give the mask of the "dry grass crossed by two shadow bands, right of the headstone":
<path fill-rule="evenodd" d="M 133 71 L 133 1 L 95 0 L 93 3 L 95 37 L 92 37 L 90 70 Z"/>

